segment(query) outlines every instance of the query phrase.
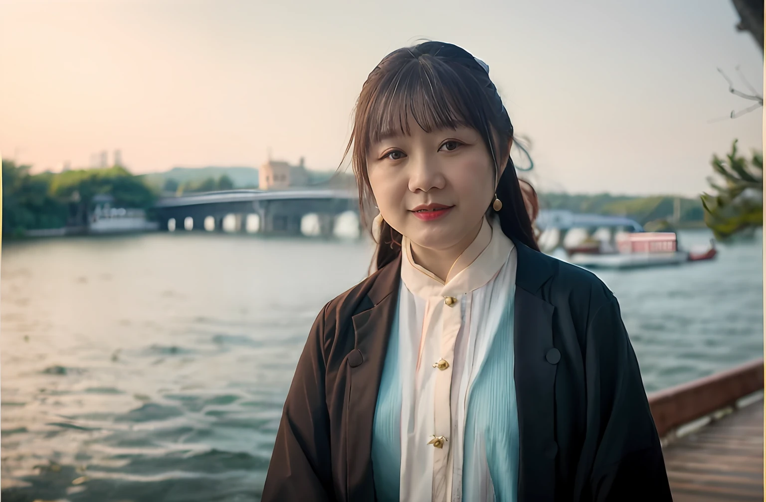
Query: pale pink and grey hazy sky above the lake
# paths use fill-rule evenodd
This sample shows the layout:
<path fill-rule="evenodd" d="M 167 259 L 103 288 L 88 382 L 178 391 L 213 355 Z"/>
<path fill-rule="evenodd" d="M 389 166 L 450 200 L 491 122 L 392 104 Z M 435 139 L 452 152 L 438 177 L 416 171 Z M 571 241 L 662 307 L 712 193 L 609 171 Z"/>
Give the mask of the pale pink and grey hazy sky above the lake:
<path fill-rule="evenodd" d="M 115 148 L 136 173 L 269 148 L 336 168 L 368 72 L 427 37 L 489 64 L 543 190 L 694 195 L 713 152 L 761 148 L 761 110 L 710 123 L 750 104 L 716 67 L 763 87 L 737 22 L 730 0 L 0 0 L 0 151 L 37 171 Z"/>

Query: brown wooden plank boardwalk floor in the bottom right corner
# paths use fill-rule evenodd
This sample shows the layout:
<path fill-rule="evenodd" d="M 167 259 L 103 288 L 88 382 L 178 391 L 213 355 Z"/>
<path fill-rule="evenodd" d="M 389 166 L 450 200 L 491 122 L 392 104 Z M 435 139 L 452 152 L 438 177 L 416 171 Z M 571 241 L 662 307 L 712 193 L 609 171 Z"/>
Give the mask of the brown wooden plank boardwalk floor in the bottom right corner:
<path fill-rule="evenodd" d="M 675 502 L 764 500 L 764 402 L 745 406 L 664 451 Z"/>

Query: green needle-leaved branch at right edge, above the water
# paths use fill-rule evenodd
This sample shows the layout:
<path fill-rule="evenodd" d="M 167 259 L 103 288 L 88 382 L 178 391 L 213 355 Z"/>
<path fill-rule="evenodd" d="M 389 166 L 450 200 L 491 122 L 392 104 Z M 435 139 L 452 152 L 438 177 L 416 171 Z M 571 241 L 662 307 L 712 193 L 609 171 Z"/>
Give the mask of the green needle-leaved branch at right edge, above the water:
<path fill-rule="evenodd" d="M 702 194 L 705 223 L 715 238 L 725 240 L 737 233 L 763 227 L 763 153 L 753 152 L 748 161 L 738 155 L 737 140 L 725 158 L 713 155 L 717 177 L 708 178 L 715 194 Z"/>

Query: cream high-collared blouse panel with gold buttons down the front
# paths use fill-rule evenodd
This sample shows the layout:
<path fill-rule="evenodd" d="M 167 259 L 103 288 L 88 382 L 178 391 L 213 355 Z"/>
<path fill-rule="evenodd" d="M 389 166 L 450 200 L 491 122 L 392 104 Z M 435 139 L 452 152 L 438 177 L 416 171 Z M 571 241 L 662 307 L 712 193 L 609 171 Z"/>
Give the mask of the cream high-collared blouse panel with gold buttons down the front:
<path fill-rule="evenodd" d="M 446 283 L 417 265 L 407 237 L 402 252 L 400 500 L 461 500 L 467 396 L 516 282 L 516 249 L 485 218 Z M 492 500 L 486 462 L 472 468 L 483 488 L 466 499 Z"/>

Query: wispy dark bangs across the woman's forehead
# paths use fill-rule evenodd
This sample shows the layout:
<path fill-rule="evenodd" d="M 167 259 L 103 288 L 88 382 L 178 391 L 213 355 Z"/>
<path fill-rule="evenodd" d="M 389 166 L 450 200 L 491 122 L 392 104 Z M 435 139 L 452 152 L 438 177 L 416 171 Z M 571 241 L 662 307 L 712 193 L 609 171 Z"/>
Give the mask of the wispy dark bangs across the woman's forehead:
<path fill-rule="evenodd" d="M 477 110 L 486 109 L 486 103 L 481 103 L 481 93 L 469 91 L 470 84 L 476 86 L 476 82 L 463 80 L 473 80 L 470 73 L 460 73 L 435 57 L 412 59 L 388 73 L 362 107 L 365 116 L 358 131 L 359 146 L 366 152 L 381 139 L 411 135 L 411 120 L 424 132 L 464 126 L 483 133 L 486 119 Z"/>

